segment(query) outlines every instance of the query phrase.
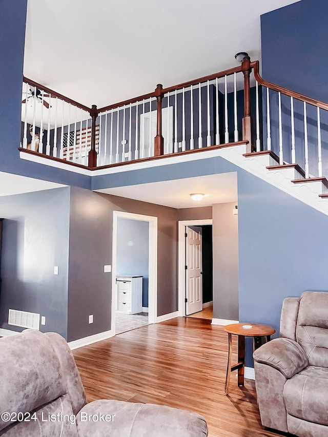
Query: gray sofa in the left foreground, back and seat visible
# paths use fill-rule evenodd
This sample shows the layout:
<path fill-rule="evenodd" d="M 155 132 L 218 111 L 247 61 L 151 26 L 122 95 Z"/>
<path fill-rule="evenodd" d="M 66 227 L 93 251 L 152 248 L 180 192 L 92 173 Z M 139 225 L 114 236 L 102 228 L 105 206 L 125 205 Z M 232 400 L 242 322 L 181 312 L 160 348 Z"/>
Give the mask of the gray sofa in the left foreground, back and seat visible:
<path fill-rule="evenodd" d="M 88 404 L 72 352 L 58 334 L 28 330 L 0 339 L 0 381 L 1 436 L 208 435 L 194 412 L 114 400 Z"/>

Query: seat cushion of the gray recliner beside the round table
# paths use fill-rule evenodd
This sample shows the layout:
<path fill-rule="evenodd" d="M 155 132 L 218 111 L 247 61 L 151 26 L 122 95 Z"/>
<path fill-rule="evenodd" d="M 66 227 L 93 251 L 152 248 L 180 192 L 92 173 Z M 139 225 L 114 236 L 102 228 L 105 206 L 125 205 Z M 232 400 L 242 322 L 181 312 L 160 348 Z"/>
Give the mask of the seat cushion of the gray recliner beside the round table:
<path fill-rule="evenodd" d="M 310 366 L 286 381 L 283 397 L 288 414 L 328 425 L 327 370 L 325 367 Z"/>

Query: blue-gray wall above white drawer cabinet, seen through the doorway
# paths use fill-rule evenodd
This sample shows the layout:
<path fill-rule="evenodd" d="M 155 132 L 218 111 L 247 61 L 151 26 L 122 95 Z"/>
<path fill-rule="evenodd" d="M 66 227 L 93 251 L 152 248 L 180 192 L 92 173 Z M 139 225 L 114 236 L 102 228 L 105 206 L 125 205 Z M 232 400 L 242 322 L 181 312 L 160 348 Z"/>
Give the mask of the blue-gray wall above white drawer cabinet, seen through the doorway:
<path fill-rule="evenodd" d="M 148 307 L 149 223 L 117 219 L 116 274 L 142 276 L 142 306 Z"/>

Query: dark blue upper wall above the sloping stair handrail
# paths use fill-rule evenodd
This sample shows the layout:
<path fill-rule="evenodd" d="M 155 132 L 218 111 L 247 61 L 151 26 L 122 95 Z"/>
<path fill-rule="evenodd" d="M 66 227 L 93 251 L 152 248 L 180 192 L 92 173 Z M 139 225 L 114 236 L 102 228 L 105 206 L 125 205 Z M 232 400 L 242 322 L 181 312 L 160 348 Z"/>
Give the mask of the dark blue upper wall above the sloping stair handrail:
<path fill-rule="evenodd" d="M 302 0 L 261 15 L 263 79 L 328 102 L 326 0 Z"/>

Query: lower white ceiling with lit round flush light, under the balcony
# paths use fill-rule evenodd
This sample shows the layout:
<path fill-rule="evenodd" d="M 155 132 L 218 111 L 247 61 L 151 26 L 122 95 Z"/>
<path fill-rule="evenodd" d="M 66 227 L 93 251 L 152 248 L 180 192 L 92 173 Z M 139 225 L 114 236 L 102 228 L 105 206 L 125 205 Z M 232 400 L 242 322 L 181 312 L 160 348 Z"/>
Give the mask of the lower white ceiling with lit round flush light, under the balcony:
<path fill-rule="evenodd" d="M 178 209 L 211 206 L 215 203 L 237 202 L 237 173 L 221 173 L 97 191 Z M 191 199 L 191 193 L 203 193 L 205 196 L 197 202 Z"/>

